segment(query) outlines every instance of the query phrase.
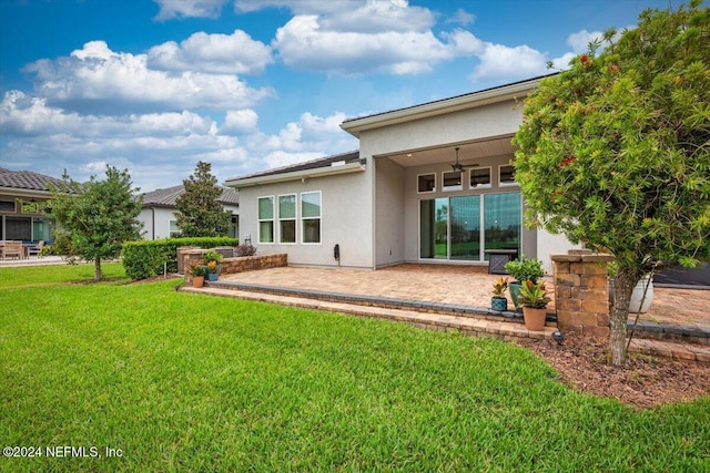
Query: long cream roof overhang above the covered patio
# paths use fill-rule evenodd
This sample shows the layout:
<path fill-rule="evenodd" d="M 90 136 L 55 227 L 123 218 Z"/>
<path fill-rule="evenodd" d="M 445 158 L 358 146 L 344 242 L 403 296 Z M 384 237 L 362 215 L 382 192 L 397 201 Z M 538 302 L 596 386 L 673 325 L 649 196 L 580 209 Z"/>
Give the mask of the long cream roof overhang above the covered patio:
<path fill-rule="evenodd" d="M 430 116 L 515 100 L 517 97 L 527 96 L 530 92 L 537 89 L 541 79 L 542 78 L 536 78 L 528 81 L 516 82 L 509 85 L 488 89 L 466 95 L 458 95 L 407 109 L 364 116 L 362 119 L 346 120 L 341 124 L 341 127 L 351 135 L 359 137 L 362 132 L 368 130 L 382 128 L 385 126 L 428 119 Z"/>

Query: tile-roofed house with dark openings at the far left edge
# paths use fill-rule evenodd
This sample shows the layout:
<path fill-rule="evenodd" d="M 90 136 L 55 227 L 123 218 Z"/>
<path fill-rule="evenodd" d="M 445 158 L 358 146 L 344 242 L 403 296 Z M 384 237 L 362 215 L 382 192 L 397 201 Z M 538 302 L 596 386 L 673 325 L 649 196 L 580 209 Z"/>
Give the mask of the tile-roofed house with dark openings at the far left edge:
<path fill-rule="evenodd" d="M 51 243 L 52 224 L 44 215 L 50 186 L 67 183 L 31 171 L 0 167 L 0 239 Z"/>

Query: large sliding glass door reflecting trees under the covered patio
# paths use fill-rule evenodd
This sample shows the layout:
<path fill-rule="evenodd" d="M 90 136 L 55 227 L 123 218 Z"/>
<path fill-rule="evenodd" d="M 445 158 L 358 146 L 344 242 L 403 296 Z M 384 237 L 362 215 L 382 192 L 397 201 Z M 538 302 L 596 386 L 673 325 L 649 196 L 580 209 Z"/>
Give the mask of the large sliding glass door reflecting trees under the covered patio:
<path fill-rule="evenodd" d="M 419 258 L 483 261 L 486 249 L 520 249 L 519 193 L 419 202 Z"/>

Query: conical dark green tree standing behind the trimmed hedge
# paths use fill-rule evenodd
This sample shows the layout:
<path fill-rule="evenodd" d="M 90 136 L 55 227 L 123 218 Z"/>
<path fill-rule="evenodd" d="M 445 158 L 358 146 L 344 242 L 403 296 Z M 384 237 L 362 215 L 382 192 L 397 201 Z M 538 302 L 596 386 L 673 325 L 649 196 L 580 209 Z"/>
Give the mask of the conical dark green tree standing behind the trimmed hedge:
<path fill-rule="evenodd" d="M 210 163 L 199 162 L 190 178 L 182 183 L 185 192 L 178 197 L 178 227 L 184 237 L 227 236 L 231 213 L 217 198 L 222 189 L 211 173 Z"/>

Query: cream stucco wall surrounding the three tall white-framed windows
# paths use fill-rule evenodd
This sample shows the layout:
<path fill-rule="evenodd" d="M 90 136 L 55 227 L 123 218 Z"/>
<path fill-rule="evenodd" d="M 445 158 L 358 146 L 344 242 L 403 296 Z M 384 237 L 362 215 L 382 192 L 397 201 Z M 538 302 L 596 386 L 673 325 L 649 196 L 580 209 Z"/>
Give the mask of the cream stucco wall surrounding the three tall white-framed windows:
<path fill-rule="evenodd" d="M 285 253 L 290 265 L 337 266 L 333 257 L 341 247 L 341 266 L 373 267 L 372 179 L 371 165 L 365 172 L 329 177 L 307 178 L 240 188 L 240 239 L 251 237 L 260 254 Z M 301 220 L 297 220 L 296 244 L 263 244 L 258 241 L 257 198 L 283 194 L 321 191 L 321 244 L 301 243 Z M 278 222 L 275 222 L 278 225 Z"/>

